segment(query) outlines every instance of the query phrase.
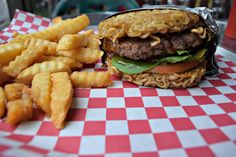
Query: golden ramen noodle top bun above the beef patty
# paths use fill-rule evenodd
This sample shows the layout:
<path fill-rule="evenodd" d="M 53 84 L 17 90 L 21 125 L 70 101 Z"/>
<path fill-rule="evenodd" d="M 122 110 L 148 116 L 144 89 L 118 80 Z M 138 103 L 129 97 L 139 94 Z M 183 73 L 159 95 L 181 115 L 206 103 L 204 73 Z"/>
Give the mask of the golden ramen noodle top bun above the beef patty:
<path fill-rule="evenodd" d="M 128 36 L 146 38 L 155 33 L 182 32 L 200 21 L 198 15 L 181 10 L 140 10 L 112 16 L 102 21 L 99 37 L 112 41 Z"/>

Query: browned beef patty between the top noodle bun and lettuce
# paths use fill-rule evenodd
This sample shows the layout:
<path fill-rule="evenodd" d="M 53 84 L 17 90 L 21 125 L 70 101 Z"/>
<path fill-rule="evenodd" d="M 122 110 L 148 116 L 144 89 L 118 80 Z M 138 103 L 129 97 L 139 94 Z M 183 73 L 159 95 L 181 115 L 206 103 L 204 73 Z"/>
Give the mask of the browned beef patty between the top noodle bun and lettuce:
<path fill-rule="evenodd" d="M 204 41 L 191 32 L 173 33 L 159 37 L 161 42 L 155 46 L 151 46 L 155 40 L 150 37 L 146 39 L 125 37 L 115 43 L 104 39 L 103 48 L 108 53 L 119 54 L 134 60 L 145 60 L 174 54 L 176 50 L 191 50 L 200 46 Z"/>

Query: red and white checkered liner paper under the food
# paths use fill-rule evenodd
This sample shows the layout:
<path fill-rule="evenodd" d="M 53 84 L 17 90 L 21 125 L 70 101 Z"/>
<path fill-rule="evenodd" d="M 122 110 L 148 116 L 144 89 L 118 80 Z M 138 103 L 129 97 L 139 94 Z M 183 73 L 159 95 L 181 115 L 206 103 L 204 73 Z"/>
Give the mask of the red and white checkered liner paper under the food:
<path fill-rule="evenodd" d="M 50 20 L 16 10 L 0 32 L 34 32 Z M 139 87 L 113 76 L 108 88 L 75 89 L 66 127 L 56 130 L 38 109 L 31 121 L 0 121 L 0 156 L 235 157 L 236 64 L 217 56 L 220 74 L 197 87 Z M 86 70 L 101 70 L 101 63 Z"/>

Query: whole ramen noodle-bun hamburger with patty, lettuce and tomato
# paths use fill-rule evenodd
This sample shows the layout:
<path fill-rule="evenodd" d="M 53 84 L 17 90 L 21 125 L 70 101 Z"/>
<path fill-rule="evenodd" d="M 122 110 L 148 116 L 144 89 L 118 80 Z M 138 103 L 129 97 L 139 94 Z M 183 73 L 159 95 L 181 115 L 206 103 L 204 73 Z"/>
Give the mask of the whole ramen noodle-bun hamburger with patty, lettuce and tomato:
<path fill-rule="evenodd" d="M 118 13 L 98 26 L 113 74 L 138 85 L 187 88 L 212 69 L 216 34 L 198 14 L 179 9 Z"/>

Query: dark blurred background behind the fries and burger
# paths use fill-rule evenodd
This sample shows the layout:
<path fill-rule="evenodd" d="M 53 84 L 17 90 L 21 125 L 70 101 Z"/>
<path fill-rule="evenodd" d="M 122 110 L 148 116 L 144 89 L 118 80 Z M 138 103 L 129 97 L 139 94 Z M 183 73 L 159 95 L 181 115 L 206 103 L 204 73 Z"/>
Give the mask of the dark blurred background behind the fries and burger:
<path fill-rule="evenodd" d="M 233 0 L 0 0 L 0 29 L 9 24 L 15 9 L 48 18 L 62 16 L 64 19 L 86 13 L 91 24 L 96 25 L 114 12 L 161 4 L 212 9 L 222 36 Z"/>

